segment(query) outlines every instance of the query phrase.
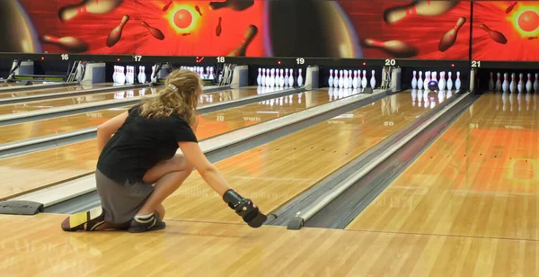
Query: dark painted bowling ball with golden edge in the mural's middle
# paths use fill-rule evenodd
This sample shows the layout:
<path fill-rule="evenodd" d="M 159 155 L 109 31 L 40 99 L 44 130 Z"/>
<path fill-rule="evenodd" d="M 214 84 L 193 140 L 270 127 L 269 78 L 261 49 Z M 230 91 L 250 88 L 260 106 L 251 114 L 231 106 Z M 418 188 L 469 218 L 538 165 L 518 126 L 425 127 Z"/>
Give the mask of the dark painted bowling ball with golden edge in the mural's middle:
<path fill-rule="evenodd" d="M 265 3 L 267 56 L 363 58 L 358 33 L 337 1 Z"/>

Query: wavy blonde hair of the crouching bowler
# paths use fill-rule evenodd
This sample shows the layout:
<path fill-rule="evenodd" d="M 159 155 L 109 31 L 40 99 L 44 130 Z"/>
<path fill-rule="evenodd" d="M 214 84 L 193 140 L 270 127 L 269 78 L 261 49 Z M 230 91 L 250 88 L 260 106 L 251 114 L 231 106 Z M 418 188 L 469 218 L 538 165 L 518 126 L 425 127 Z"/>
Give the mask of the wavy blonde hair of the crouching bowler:
<path fill-rule="evenodd" d="M 196 130 L 201 89 L 202 81 L 195 72 L 176 69 L 166 77 L 157 96 L 142 100 L 140 114 L 146 118 L 166 118 L 175 113 Z"/>

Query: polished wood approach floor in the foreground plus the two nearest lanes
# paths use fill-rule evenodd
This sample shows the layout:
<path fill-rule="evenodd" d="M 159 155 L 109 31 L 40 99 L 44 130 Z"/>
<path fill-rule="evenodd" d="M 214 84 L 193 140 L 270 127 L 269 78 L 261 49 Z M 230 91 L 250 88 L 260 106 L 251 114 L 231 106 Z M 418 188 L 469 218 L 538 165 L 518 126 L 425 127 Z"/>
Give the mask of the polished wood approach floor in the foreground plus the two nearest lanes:
<path fill-rule="evenodd" d="M 417 96 L 384 98 L 216 165 L 275 210 L 444 101 Z M 249 228 L 195 172 L 165 201 L 157 232 L 66 233 L 66 215 L 0 215 L 0 276 L 537 276 L 538 107 L 505 96 L 482 96 L 348 229 Z"/>

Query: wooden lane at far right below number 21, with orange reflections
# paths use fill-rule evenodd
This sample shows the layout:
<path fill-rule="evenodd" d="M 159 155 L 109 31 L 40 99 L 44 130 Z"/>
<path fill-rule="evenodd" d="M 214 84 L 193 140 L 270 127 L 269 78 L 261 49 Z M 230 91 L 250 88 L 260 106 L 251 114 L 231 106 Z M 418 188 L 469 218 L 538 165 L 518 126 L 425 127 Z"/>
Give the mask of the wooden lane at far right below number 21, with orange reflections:
<path fill-rule="evenodd" d="M 348 228 L 537 240 L 539 110 L 517 98 L 483 95 Z"/>

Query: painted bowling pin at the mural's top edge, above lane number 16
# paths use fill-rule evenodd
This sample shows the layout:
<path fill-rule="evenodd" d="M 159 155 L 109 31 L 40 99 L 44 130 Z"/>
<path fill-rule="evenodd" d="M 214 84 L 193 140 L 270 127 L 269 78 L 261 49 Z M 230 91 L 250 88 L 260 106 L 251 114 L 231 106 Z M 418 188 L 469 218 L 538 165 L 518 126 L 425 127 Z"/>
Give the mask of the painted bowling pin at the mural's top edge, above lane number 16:
<path fill-rule="evenodd" d="M 123 1 L 124 0 L 84 0 L 80 4 L 71 4 L 61 7 L 58 10 L 58 18 L 60 21 L 66 22 L 84 13 L 110 13 L 119 6 L 119 4 L 122 4 Z"/>

